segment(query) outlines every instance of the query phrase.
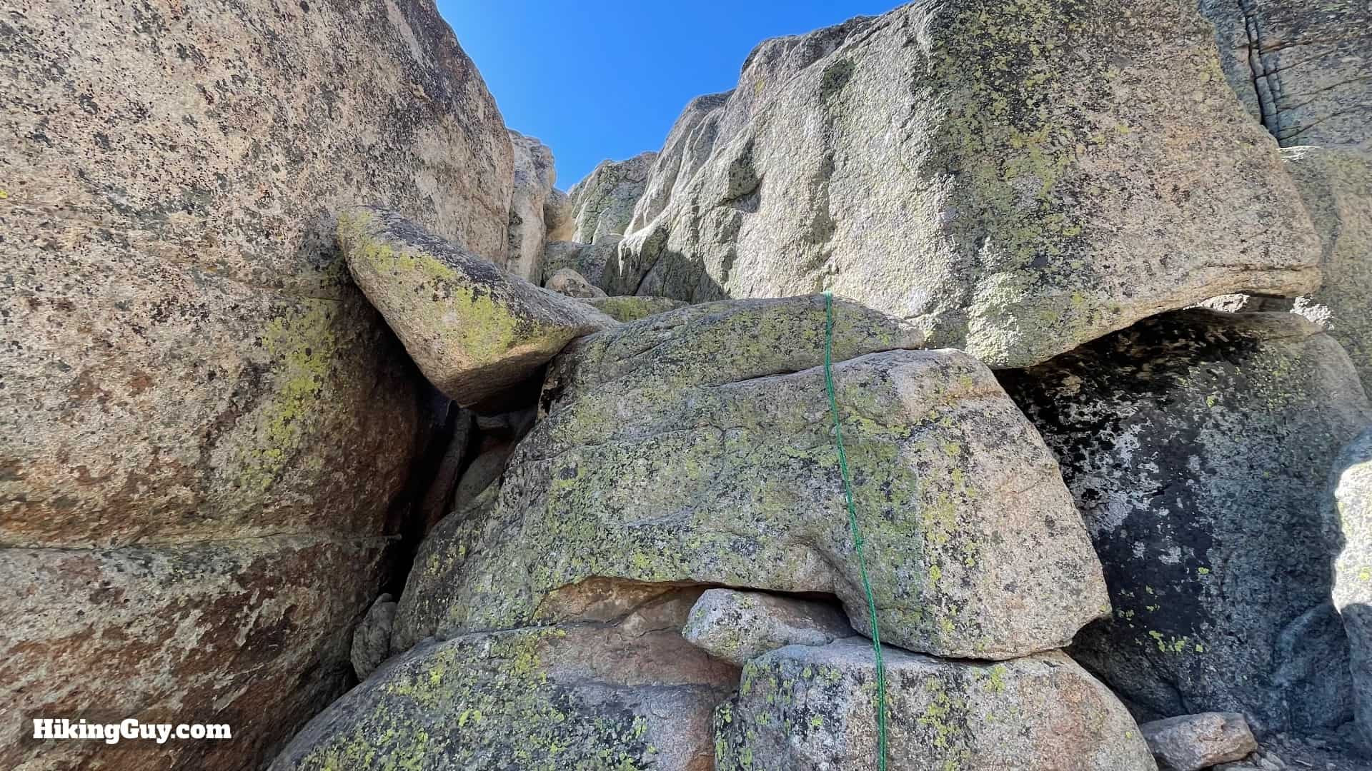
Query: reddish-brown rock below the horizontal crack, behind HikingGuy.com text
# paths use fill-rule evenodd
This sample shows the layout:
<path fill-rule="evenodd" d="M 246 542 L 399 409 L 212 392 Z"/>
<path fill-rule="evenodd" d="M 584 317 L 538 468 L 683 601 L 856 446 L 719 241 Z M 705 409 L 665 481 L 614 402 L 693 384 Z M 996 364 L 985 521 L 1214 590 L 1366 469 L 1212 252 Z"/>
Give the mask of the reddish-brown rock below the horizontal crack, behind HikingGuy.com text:
<path fill-rule="evenodd" d="M 255 768 L 351 683 L 386 539 L 4 549 L 0 767 Z M 228 722 L 233 741 L 19 741 L 21 716 Z M 75 746 L 64 746 L 71 744 Z"/>

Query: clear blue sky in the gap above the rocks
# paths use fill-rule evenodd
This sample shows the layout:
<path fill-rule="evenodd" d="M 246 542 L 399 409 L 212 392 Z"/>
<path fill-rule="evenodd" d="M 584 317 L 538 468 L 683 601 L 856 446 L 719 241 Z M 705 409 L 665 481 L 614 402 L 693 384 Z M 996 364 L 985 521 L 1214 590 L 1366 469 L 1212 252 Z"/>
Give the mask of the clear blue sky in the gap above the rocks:
<path fill-rule="evenodd" d="M 682 107 L 734 88 L 768 37 L 896 0 L 438 0 L 509 128 L 543 140 L 567 189 L 606 158 L 660 150 Z"/>

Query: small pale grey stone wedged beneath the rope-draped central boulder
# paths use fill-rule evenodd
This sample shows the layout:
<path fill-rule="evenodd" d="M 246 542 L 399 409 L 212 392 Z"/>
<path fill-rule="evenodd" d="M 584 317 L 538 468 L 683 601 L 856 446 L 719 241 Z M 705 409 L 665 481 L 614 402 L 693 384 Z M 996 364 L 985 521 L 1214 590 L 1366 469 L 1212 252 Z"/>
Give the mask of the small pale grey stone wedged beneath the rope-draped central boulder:
<path fill-rule="evenodd" d="M 848 619 L 830 605 L 733 589 L 701 594 L 682 627 L 686 642 L 740 667 L 788 645 L 827 645 L 852 635 Z"/>

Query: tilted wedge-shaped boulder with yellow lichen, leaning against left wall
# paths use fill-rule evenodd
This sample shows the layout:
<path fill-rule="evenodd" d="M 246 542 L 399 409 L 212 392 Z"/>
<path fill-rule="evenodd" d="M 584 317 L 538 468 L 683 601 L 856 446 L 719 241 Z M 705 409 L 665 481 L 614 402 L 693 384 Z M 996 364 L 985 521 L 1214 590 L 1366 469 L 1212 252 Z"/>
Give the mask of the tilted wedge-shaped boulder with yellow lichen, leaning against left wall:
<path fill-rule="evenodd" d="M 383 209 L 339 214 L 338 237 L 410 358 L 462 406 L 528 379 L 573 337 L 617 324 Z"/>

